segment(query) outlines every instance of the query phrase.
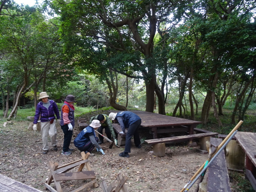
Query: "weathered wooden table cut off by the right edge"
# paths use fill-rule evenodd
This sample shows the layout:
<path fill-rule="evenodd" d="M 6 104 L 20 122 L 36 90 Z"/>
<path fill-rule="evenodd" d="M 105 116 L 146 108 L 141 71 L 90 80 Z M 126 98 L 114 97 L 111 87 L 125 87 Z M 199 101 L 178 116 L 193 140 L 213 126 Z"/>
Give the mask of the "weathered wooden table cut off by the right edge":
<path fill-rule="evenodd" d="M 256 133 L 237 132 L 235 138 L 246 154 L 246 177 L 251 182 L 254 190 L 256 190 Z"/>

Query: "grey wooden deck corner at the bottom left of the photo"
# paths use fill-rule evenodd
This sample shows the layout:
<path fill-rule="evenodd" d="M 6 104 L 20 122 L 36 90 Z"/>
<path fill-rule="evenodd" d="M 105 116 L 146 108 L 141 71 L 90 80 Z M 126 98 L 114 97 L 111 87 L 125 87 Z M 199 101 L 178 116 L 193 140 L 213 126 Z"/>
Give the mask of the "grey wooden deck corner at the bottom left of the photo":
<path fill-rule="evenodd" d="M 33 187 L 29 187 L 19 181 L 0 174 L 0 191 L 1 192 L 42 192 Z"/>

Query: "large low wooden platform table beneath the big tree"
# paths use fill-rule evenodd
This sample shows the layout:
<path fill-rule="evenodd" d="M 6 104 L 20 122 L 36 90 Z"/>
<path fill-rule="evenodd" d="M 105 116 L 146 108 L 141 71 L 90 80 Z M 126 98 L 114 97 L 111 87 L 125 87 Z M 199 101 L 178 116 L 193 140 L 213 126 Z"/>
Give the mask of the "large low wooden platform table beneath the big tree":
<path fill-rule="evenodd" d="M 121 111 L 108 111 L 109 113 L 118 113 Z M 146 111 L 131 111 L 141 118 L 141 129 L 148 129 L 153 134 L 153 139 L 157 139 L 158 133 L 170 132 L 189 132 L 194 134 L 194 128 L 200 121 L 182 119 L 158 113 L 150 113 Z"/>

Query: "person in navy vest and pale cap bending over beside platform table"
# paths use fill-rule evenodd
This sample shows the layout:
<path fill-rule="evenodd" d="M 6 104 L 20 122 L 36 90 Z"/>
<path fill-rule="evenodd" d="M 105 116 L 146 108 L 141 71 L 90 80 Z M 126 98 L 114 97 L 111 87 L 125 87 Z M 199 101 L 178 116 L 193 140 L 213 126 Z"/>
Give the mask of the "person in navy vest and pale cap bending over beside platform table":
<path fill-rule="evenodd" d="M 125 137 L 125 147 L 124 152 L 119 153 L 120 157 L 129 157 L 128 153 L 131 153 L 131 139 L 133 136 L 134 144 L 137 148 L 141 148 L 140 146 L 140 135 L 138 128 L 141 124 L 141 118 L 136 115 L 135 113 L 132 113 L 130 111 L 122 111 L 118 113 L 109 113 L 109 119 L 111 121 L 118 121 L 118 123 L 121 126 L 122 132 L 125 133 L 125 128 L 128 128 L 128 131 L 126 133 Z"/>

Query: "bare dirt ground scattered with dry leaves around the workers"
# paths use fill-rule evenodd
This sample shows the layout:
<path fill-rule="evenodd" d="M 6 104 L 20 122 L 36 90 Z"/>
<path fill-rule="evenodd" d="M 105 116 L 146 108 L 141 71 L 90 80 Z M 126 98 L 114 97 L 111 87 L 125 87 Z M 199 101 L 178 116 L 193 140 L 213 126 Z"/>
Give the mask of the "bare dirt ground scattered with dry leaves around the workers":
<path fill-rule="evenodd" d="M 59 149 L 56 152 L 51 147 L 49 152 L 43 155 L 41 134 L 28 131 L 29 123 L 29 121 L 22 121 L 6 124 L 6 127 L 1 125 L 0 173 L 44 191 L 44 182 L 50 173 L 48 163 L 50 160 L 63 165 L 81 158 L 80 151 L 73 144 L 73 139 L 79 130 L 76 124 L 74 138 L 70 145 L 70 148 L 75 150 L 72 155 L 65 156 L 61 155 L 63 132 L 60 125 L 57 125 Z M 150 136 L 147 132 L 140 132 L 141 139 L 152 139 L 148 138 Z M 132 141 L 130 158 L 124 158 L 118 156 L 124 147 L 117 148 L 114 145 L 109 149 L 109 144 L 104 140 L 104 144 L 101 145 L 106 155 L 101 155 L 93 149 L 95 156 L 89 158 L 98 184 L 104 180 L 108 185 L 114 182 L 117 186 L 116 175 L 121 173 L 128 177 L 126 184 L 131 192 L 180 191 L 208 157 L 208 154 L 196 152 L 199 146 L 188 147 L 186 143 L 167 144 L 166 155 L 156 157 L 150 153 L 152 148 L 147 143 L 142 143 L 139 149 Z M 86 182 L 89 180 L 82 181 L 82 183 Z M 71 191 L 81 186 L 82 183 L 81 180 L 72 180 L 62 182 L 61 186 L 63 191 Z M 55 188 L 54 184 L 51 186 Z M 194 191 L 195 187 L 196 184 L 190 191 Z M 91 186 L 81 191 L 99 192 L 103 190 L 99 185 L 97 188 Z"/>

